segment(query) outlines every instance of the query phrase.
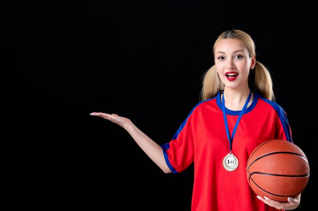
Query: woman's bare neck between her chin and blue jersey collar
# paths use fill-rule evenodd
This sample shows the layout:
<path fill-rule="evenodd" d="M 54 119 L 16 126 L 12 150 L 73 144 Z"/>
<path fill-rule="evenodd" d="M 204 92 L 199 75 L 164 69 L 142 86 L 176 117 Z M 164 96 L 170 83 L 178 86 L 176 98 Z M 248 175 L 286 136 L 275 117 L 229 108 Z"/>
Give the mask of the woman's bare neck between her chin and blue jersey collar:
<path fill-rule="evenodd" d="M 248 88 L 244 89 L 244 90 L 240 90 L 240 91 L 225 89 L 224 93 L 223 93 L 225 107 L 227 107 L 228 109 L 233 110 L 233 111 L 242 110 L 242 108 L 247 100 L 247 97 L 249 95 L 249 92 L 250 92 L 250 90 Z M 252 94 L 247 106 L 249 106 L 252 103 L 252 101 L 253 101 L 252 98 L 253 98 L 253 94 Z M 224 102 L 222 102 L 222 103 L 224 103 Z"/>

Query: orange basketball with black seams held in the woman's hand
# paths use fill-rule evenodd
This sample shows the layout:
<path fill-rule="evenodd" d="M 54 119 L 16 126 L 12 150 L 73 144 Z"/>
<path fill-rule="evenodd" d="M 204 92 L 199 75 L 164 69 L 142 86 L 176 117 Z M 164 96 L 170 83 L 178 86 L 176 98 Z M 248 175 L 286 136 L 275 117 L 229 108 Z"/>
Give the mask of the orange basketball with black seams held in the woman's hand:
<path fill-rule="evenodd" d="M 257 195 L 286 202 L 305 189 L 309 179 L 308 159 L 294 143 L 266 141 L 251 152 L 246 177 Z"/>

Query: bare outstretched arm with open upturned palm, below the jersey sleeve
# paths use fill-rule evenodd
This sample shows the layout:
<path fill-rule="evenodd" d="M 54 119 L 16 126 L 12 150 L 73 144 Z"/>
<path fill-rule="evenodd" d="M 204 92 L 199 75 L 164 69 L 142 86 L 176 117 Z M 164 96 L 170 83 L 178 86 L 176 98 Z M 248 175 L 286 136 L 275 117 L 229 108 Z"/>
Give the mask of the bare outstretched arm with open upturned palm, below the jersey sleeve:
<path fill-rule="evenodd" d="M 122 126 L 122 128 L 124 128 L 133 137 L 139 147 L 162 169 L 164 173 L 171 173 L 171 170 L 165 161 L 162 147 L 139 130 L 130 119 L 118 116 L 117 114 L 102 112 L 92 112 L 90 115 L 102 117 Z"/>

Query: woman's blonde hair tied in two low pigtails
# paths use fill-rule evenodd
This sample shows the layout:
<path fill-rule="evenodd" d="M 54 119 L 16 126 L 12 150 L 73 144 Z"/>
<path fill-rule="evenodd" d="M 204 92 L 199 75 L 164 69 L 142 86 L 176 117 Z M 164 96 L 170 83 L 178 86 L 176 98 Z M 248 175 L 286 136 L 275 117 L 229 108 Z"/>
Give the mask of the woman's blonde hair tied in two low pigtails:
<path fill-rule="evenodd" d="M 213 46 L 213 56 L 215 46 L 220 40 L 227 38 L 239 39 L 245 45 L 250 58 L 256 55 L 255 43 L 251 36 L 242 30 L 232 29 L 222 32 L 217 37 Z M 259 61 L 256 61 L 255 70 L 249 72 L 248 87 L 253 92 L 257 91 L 264 98 L 275 101 L 271 74 L 268 68 Z M 215 97 L 221 90 L 224 90 L 224 84 L 219 78 L 214 64 L 203 75 L 201 101 Z"/>

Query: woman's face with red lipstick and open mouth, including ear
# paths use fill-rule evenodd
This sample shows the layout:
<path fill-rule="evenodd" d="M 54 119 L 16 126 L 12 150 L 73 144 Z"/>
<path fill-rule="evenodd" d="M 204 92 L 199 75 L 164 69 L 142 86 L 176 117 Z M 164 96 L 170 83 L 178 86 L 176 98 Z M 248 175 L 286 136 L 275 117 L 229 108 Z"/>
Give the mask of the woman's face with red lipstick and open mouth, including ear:
<path fill-rule="evenodd" d="M 220 40 L 215 46 L 215 67 L 221 81 L 228 88 L 248 87 L 249 70 L 255 66 L 255 55 L 249 58 L 244 44 L 235 38 Z"/>

